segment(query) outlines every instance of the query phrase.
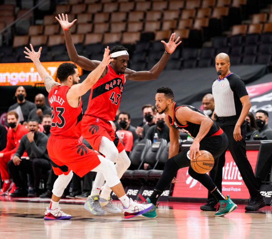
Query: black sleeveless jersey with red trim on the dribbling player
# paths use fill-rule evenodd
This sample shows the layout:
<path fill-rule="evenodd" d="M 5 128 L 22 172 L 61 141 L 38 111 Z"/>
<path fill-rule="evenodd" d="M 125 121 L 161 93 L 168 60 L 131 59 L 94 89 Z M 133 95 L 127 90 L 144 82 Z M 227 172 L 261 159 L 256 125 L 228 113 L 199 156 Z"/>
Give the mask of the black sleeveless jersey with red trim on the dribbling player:
<path fill-rule="evenodd" d="M 176 110 L 180 107 L 188 107 L 195 112 L 198 112 L 204 116 L 206 116 L 206 115 L 202 111 L 196 109 L 195 107 L 193 107 L 191 105 L 177 104 L 177 103 L 174 103 L 174 105 L 173 105 L 174 120 L 172 120 L 172 118 L 169 115 L 167 115 L 169 123 L 171 124 L 171 126 L 174 129 L 177 129 L 181 132 L 185 132 L 188 135 L 190 135 L 192 138 L 195 138 L 199 132 L 200 124 L 191 123 L 189 121 L 187 121 L 187 125 L 182 125 L 181 123 L 179 123 L 179 121 L 176 118 Z M 206 117 L 208 117 L 208 116 L 206 116 Z M 210 128 L 209 132 L 205 135 L 205 137 L 210 137 L 210 136 L 214 135 L 215 133 L 217 133 L 217 131 L 219 131 L 219 130 L 220 130 L 220 127 L 213 121 L 213 125 Z M 223 131 L 222 131 L 222 133 L 223 133 Z"/>

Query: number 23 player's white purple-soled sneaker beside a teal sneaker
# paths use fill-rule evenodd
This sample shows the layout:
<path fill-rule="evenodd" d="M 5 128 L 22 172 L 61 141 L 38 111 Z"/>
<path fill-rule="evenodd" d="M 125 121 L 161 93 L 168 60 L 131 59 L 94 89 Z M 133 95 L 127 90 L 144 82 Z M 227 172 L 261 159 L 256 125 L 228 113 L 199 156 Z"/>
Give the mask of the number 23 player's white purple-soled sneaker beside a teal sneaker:
<path fill-rule="evenodd" d="M 123 207 L 124 218 L 133 218 L 139 216 L 152 208 L 152 203 L 149 204 L 141 204 L 137 203 L 137 201 L 133 201 L 130 198 L 130 204 L 128 208 Z"/>

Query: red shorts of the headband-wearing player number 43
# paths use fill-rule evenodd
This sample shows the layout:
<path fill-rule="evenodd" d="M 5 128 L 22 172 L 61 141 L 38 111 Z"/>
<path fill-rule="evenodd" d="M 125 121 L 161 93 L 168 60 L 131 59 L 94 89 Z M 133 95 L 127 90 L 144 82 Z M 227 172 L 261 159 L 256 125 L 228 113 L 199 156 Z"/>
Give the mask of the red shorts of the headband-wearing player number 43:
<path fill-rule="evenodd" d="M 82 136 L 96 151 L 99 151 L 98 148 L 103 136 L 114 142 L 119 153 L 125 149 L 122 142 L 112 129 L 111 123 L 103 119 L 84 115 L 82 119 Z"/>

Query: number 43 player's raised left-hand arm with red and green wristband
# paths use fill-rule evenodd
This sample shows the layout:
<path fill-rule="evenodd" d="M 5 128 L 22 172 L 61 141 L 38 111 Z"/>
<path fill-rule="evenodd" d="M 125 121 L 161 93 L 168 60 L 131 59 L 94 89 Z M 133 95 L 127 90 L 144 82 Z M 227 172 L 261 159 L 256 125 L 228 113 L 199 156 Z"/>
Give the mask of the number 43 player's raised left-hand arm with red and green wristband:
<path fill-rule="evenodd" d="M 77 19 L 75 19 L 74 21 L 69 22 L 67 14 L 65 14 L 64 17 L 63 13 L 62 17 L 59 14 L 59 18 L 58 17 L 55 18 L 58 20 L 62 29 L 70 29 L 74 25 L 75 21 L 77 21 Z M 77 50 L 74 46 L 70 30 L 64 31 L 64 36 L 68 55 L 72 62 L 76 63 L 81 68 L 90 71 L 94 70 L 100 64 L 100 61 L 89 60 L 86 57 L 77 54 Z"/>

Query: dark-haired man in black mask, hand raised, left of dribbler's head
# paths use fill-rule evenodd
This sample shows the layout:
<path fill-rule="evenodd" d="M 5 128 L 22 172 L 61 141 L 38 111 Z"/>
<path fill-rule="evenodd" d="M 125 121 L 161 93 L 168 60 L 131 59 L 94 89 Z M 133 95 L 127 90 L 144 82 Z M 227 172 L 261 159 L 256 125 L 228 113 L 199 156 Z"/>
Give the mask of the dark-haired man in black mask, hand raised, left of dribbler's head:
<path fill-rule="evenodd" d="M 156 108 L 151 104 L 146 104 L 142 107 L 143 111 L 143 123 L 136 129 L 136 134 L 139 136 L 139 140 L 145 138 L 145 135 L 149 128 L 155 125 L 155 110 Z"/>

